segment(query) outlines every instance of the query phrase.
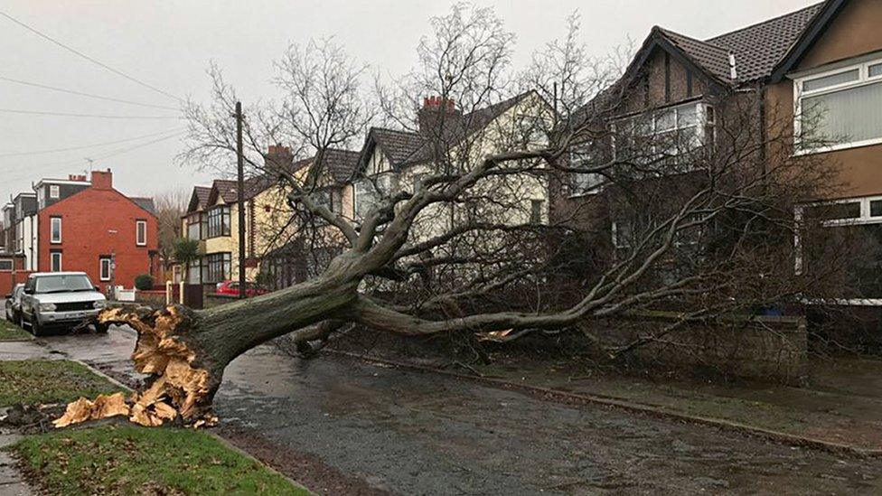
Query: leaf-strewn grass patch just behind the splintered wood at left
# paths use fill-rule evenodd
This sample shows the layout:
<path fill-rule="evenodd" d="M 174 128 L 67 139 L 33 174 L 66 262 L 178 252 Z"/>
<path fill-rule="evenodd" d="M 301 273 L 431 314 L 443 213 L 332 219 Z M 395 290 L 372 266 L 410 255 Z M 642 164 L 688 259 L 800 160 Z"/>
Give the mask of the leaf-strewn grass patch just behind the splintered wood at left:
<path fill-rule="evenodd" d="M 67 403 L 121 390 L 76 361 L 0 361 L 0 407 Z"/>

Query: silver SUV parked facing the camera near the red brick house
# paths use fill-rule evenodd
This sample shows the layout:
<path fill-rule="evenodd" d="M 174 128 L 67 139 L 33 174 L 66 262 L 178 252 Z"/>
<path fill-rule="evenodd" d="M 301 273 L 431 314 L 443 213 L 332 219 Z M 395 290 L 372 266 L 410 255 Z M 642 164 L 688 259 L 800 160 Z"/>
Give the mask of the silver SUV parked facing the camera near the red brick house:
<path fill-rule="evenodd" d="M 108 301 L 85 272 L 38 272 L 24 283 L 19 323 L 34 336 L 49 328 L 72 328 L 93 320 Z M 107 332 L 107 324 L 95 324 Z"/>

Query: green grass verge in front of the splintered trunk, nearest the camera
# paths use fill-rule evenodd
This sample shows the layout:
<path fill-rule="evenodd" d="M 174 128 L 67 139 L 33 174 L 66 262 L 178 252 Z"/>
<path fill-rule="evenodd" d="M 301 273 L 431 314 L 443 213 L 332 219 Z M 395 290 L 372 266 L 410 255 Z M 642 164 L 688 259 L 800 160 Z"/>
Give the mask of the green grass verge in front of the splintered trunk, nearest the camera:
<path fill-rule="evenodd" d="M 310 494 L 202 432 L 97 426 L 12 447 L 50 494 Z"/>

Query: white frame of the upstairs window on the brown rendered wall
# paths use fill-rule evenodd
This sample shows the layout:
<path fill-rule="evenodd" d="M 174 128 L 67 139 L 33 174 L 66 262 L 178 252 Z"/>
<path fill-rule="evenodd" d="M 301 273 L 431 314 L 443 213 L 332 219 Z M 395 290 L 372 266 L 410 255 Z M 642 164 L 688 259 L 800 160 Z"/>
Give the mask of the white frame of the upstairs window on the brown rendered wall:
<path fill-rule="evenodd" d="M 848 66 L 838 67 L 836 69 L 825 70 L 823 72 L 816 72 L 810 75 L 798 77 L 793 79 L 793 154 L 794 155 L 807 155 L 807 154 L 822 154 L 827 152 L 835 152 L 836 150 L 846 150 L 849 148 L 857 148 L 859 146 L 868 146 L 868 145 L 878 145 L 882 144 L 882 136 L 870 139 L 864 139 L 859 141 L 851 141 L 848 143 L 840 143 L 837 145 L 828 145 L 828 146 L 818 146 L 816 148 L 802 148 L 802 98 L 809 97 L 818 97 L 821 95 L 828 95 L 830 93 L 837 93 L 842 91 L 843 89 L 854 89 L 860 88 L 862 86 L 869 86 L 871 84 L 878 84 L 882 82 L 882 74 L 878 76 L 870 77 L 869 68 L 870 66 L 875 66 L 882 64 L 882 58 L 871 59 L 868 61 L 862 61 L 860 63 L 851 64 Z M 841 74 L 844 72 L 849 72 L 852 70 L 858 70 L 858 80 L 849 81 L 845 83 L 835 84 L 832 86 L 828 86 L 821 89 L 814 89 L 812 91 L 803 91 L 802 86 L 812 80 L 820 80 L 822 78 L 827 78 L 829 76 L 835 76 L 836 74 Z"/>

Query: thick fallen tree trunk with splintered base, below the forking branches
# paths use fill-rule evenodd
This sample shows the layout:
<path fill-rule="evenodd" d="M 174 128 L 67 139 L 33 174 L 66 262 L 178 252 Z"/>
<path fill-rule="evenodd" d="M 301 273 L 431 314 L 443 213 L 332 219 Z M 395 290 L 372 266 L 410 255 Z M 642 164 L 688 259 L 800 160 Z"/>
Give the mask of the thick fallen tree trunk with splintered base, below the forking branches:
<path fill-rule="evenodd" d="M 342 279 L 324 277 L 202 311 L 175 304 L 159 311 L 124 306 L 100 314 L 99 323 L 127 324 L 138 333 L 132 360 L 150 379 L 131 398 L 130 420 L 146 426 L 178 416 L 188 425 L 213 422 L 211 402 L 230 361 L 290 332 L 298 332 L 299 340 L 317 339 L 323 329 L 314 324 L 348 315 L 357 284 Z M 100 403 L 71 403 L 56 425 L 107 416 Z M 113 412 L 120 415 L 118 408 Z"/>

